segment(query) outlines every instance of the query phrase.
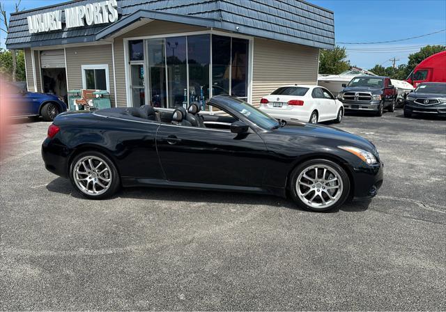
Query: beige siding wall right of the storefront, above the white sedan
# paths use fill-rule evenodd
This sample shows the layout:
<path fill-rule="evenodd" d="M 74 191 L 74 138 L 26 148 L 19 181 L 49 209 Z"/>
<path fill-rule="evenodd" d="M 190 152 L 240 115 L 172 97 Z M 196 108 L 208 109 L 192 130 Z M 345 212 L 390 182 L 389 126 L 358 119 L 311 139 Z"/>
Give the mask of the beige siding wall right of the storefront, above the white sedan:
<path fill-rule="evenodd" d="M 284 84 L 317 84 L 318 48 L 254 39 L 252 104 Z"/>

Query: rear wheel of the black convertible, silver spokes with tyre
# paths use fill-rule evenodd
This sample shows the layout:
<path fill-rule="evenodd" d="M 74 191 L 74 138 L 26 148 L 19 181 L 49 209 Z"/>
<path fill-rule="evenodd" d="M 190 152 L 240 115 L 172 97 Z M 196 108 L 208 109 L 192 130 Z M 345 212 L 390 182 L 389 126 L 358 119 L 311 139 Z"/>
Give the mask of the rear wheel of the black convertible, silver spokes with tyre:
<path fill-rule="evenodd" d="M 77 192 L 90 199 L 112 196 L 120 185 L 113 162 L 95 151 L 80 153 L 72 160 L 70 180 Z"/>

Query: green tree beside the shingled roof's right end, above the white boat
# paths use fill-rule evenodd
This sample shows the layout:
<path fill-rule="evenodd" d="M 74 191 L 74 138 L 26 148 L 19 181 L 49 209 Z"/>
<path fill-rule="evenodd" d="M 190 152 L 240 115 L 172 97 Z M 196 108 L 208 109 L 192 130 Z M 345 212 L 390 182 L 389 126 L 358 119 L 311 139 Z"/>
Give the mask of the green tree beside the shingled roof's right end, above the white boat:
<path fill-rule="evenodd" d="M 319 72 L 337 75 L 350 69 L 345 47 L 335 46 L 332 50 L 321 50 L 319 54 Z"/>

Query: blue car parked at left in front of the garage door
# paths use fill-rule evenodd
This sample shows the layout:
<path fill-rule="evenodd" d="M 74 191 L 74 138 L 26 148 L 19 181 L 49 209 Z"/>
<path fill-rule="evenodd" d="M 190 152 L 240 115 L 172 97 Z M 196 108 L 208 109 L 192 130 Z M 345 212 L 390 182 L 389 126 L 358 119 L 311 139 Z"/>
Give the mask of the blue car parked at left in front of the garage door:
<path fill-rule="evenodd" d="M 38 117 L 52 121 L 57 115 L 67 110 L 67 104 L 63 98 L 49 93 L 38 93 L 26 91 L 20 83 L 10 84 L 14 92 L 10 93 L 10 102 L 15 107 L 13 109 L 15 117 Z"/>

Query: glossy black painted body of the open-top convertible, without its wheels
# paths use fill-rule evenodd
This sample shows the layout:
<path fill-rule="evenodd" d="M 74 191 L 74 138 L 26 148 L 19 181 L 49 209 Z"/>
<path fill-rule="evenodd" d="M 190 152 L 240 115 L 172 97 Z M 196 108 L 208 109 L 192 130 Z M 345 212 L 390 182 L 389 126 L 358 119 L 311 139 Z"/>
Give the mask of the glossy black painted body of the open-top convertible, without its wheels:
<path fill-rule="evenodd" d="M 45 166 L 68 177 L 70 160 L 77 153 L 98 150 L 114 161 L 125 187 L 194 187 L 286 196 L 289 174 L 297 164 L 326 158 L 347 171 L 353 196 L 376 194 L 374 189 L 383 180 L 383 164 L 375 146 L 366 139 L 293 120 L 275 130 L 262 129 L 240 112 L 231 111 L 225 104 L 230 100 L 229 96 L 219 95 L 210 104 L 226 109 L 249 125 L 245 134 L 105 117 L 100 111 L 62 114 L 54 120 L 59 133 L 43 142 Z M 375 155 L 378 164 L 367 165 L 337 146 L 367 150 Z"/>

